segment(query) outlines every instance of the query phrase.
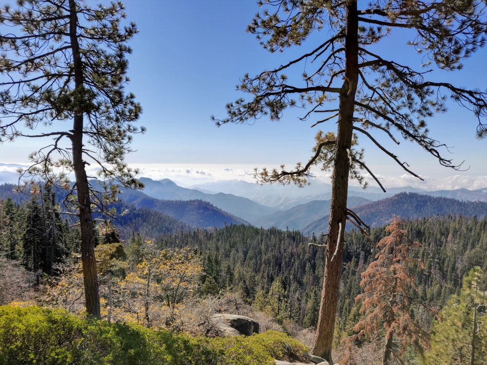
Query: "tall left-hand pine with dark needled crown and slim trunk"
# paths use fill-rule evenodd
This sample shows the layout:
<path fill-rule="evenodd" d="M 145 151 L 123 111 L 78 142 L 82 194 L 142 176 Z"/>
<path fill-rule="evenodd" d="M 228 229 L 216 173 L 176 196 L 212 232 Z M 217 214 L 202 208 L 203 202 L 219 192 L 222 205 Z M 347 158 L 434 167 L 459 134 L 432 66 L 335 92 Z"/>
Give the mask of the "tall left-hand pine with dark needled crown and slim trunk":
<path fill-rule="evenodd" d="M 118 184 L 141 186 L 124 162 L 141 109 L 124 90 L 127 41 L 137 29 L 133 23 L 121 27 L 123 18 L 120 1 L 105 6 L 83 0 L 18 1 L 17 7 L 4 5 L 0 16 L 6 30 L 0 34 L 0 73 L 8 75 L 0 82 L 0 141 L 48 139 L 30 154 L 32 165 L 21 176 L 70 189 L 81 231 L 86 310 L 95 318 L 100 301 L 92 207 L 115 199 Z M 99 168 L 103 194 L 94 194 L 100 187 L 88 182 L 90 164 Z"/>

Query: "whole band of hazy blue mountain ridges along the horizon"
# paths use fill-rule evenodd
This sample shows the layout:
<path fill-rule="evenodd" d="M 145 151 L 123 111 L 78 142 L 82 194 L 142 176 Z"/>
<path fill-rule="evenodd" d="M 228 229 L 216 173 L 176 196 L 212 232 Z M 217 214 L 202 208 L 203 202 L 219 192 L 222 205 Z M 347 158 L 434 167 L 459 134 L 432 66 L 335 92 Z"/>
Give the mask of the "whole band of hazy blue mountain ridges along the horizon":
<path fill-rule="evenodd" d="M 0 172 L 0 183 L 4 176 L 5 171 Z M 310 189 L 299 189 L 225 181 L 188 188 L 169 179 L 140 180 L 145 184 L 143 190 L 123 189 L 120 199 L 129 206 L 129 210 L 149 210 L 144 211 L 144 216 L 150 215 L 150 211 L 157 211 L 187 227 L 200 228 L 252 224 L 262 228 L 300 230 L 305 234 L 327 230 L 331 196 L 329 184 L 318 183 Z M 13 186 L 6 186 L 0 188 L 0 199 L 13 194 Z M 350 187 L 348 207 L 371 226 L 387 224 L 393 215 L 405 219 L 448 214 L 481 217 L 487 216 L 487 188 L 424 191 L 403 187 L 383 193 L 375 187 L 365 190 Z M 150 232 L 159 232 L 154 229 Z"/>

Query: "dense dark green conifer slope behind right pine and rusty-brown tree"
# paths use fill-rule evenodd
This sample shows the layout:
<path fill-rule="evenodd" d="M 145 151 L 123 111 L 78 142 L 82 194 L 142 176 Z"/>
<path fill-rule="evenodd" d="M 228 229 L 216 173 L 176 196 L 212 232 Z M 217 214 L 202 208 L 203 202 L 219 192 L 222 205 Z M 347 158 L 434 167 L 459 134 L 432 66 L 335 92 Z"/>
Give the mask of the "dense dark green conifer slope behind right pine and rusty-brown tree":
<path fill-rule="evenodd" d="M 415 271 L 421 301 L 441 308 L 459 290 L 462 277 L 472 267 L 486 267 L 486 227 L 487 218 L 465 216 L 434 216 L 405 223 L 404 229 L 421 244 L 412 254 L 425 263 Z M 337 308 L 341 335 L 348 333 L 358 316 L 355 297 L 362 290 L 360 274 L 374 260 L 375 244 L 385 234 L 383 226 L 373 228 L 373 244 L 356 231 L 346 234 Z M 210 233 L 180 233 L 165 237 L 165 241 L 168 247 L 188 245 L 202 252 L 205 267 L 211 268 L 208 275 L 221 289 L 238 290 L 253 305 L 259 298 L 267 303 L 281 295 L 281 315 L 294 318 L 300 325 L 316 324 L 324 249 L 309 246 L 309 238 L 300 232 L 228 226 Z M 431 318 L 424 320 L 425 326 L 431 324 Z"/>

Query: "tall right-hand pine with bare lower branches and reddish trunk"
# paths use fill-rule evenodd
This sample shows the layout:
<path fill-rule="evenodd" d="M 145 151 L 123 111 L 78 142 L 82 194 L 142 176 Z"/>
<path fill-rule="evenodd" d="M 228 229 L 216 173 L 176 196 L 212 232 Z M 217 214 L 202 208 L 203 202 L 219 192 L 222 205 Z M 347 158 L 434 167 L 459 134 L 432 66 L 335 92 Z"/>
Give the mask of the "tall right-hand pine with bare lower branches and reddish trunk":
<path fill-rule="evenodd" d="M 333 363 L 331 349 L 338 301 L 347 219 L 348 181 L 366 185 L 362 171 L 379 179 L 357 148 L 359 137 L 372 141 L 407 173 L 420 178 L 409 164 L 385 147 L 383 138 L 399 144 L 401 136 L 422 147 L 444 166 L 444 144 L 428 134 L 427 119 L 447 110 L 450 99 L 473 111 L 477 136 L 487 135 L 487 93 L 429 80 L 430 71 L 458 70 L 462 59 L 486 43 L 486 4 L 480 0 L 370 1 L 262 0 L 264 10 L 248 26 L 270 52 L 306 47 L 302 55 L 281 66 L 251 76 L 238 89 L 249 95 L 226 105 L 226 123 L 253 123 L 261 117 L 279 120 L 286 109 L 303 108 L 301 120 L 312 127 L 336 122 L 335 131 L 316 135 L 313 156 L 296 168 L 256 170 L 261 182 L 308 183 L 311 167 L 332 170 L 332 202 L 321 308 L 313 352 Z M 358 7 L 360 6 L 360 8 Z M 418 71 L 407 59 L 377 54 L 377 43 L 392 30 L 403 31 L 412 51 L 422 53 Z M 319 35 L 315 37 L 315 33 Z M 324 35 L 324 37 L 323 37 Z M 399 59 L 400 58 L 400 59 Z M 298 73 L 288 77 L 286 73 Z M 355 223 L 358 223 L 355 222 Z"/>

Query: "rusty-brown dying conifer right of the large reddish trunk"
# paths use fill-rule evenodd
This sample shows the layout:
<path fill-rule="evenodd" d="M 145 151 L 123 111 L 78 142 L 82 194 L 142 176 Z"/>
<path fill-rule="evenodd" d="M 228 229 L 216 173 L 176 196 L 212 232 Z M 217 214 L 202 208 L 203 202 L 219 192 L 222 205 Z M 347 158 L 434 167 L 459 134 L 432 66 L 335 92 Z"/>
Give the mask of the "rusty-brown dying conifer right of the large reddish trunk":
<path fill-rule="evenodd" d="M 362 273 L 364 292 L 357 295 L 356 302 L 361 303 L 363 316 L 353 328 L 356 334 L 345 340 L 353 343 L 384 336 L 383 365 L 392 364 L 393 359 L 400 363 L 409 345 L 423 354 L 423 347 L 429 344 L 428 333 L 411 315 L 417 297 L 414 269 L 422 266 L 412 258 L 411 250 L 419 243 L 410 239 L 401 224 L 395 218 L 386 228 L 388 235 L 377 244 L 380 251 L 375 261 Z"/>

